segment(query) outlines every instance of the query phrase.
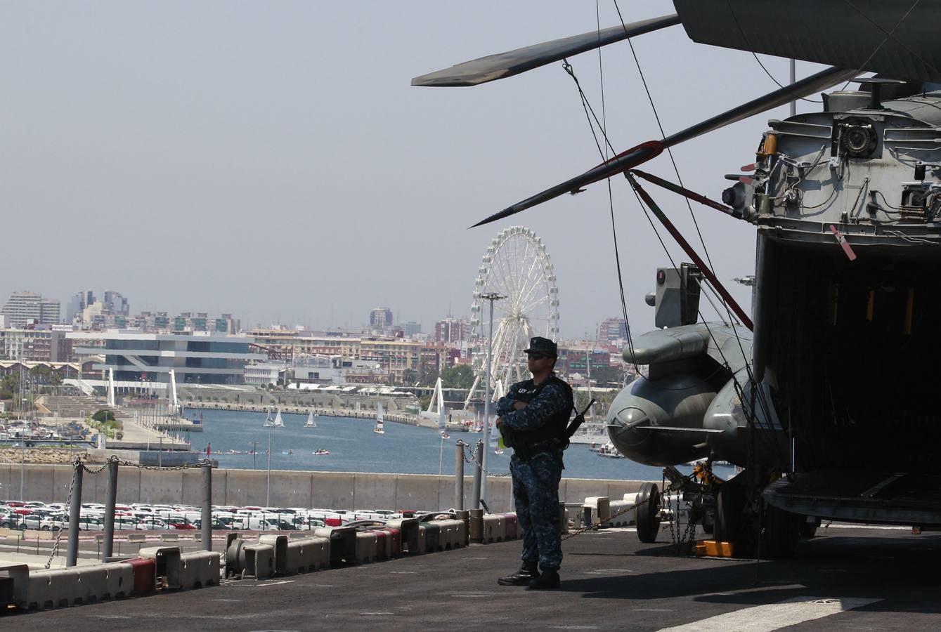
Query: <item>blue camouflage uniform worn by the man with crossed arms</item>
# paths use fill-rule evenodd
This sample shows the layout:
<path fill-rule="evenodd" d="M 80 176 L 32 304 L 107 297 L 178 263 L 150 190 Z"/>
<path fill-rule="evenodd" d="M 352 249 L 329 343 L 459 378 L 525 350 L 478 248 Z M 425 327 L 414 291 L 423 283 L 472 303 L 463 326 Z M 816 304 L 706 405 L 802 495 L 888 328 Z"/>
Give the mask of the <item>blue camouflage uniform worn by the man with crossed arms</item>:
<path fill-rule="evenodd" d="M 527 402 L 514 410 L 516 402 Z M 561 435 L 572 409 L 572 391 L 551 373 L 541 385 L 533 380 L 518 382 L 497 402 L 502 427 L 513 433 L 514 452 L 510 459 L 513 497 L 519 529 L 522 532 L 524 564 L 539 563 L 542 570 L 559 569 L 562 564 L 562 530 L 559 525 L 559 481 L 562 479 L 562 441 L 546 438 L 556 428 Z M 537 438 L 526 441 L 528 433 Z M 519 446 L 522 443 L 524 445 Z"/>

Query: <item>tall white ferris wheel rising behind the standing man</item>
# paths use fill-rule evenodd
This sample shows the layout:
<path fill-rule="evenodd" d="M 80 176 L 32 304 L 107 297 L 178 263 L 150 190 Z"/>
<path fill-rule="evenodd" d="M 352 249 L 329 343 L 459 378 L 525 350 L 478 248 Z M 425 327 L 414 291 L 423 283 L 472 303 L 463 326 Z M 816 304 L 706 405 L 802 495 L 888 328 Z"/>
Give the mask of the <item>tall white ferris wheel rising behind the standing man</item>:
<path fill-rule="evenodd" d="M 559 337 L 559 289 L 546 245 L 532 229 L 501 230 L 486 248 L 474 280 L 470 307 L 470 354 L 475 374 L 471 398 L 483 397 L 490 301 L 493 302 L 493 360 L 490 387 L 494 392 L 529 377 L 523 350 L 534 336 Z"/>

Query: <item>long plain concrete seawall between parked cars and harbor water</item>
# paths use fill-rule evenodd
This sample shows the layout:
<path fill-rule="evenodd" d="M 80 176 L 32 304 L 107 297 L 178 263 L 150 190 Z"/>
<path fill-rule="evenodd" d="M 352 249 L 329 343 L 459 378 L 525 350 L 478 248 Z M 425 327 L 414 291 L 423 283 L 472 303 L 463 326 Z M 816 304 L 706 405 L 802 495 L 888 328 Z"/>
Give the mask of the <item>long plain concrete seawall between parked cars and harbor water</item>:
<path fill-rule="evenodd" d="M 97 469 L 93 466 L 92 469 Z M 64 502 L 72 482 L 71 465 L 27 465 L 23 470 L 24 497 Z M 120 466 L 118 502 L 188 504 L 201 502 L 199 468 L 141 469 Z M 21 466 L 0 464 L 0 499 L 20 497 Z M 267 471 L 214 469 L 213 504 L 264 504 Z M 464 477 L 464 502 L 469 505 L 472 478 Z M 512 511 L 509 477 L 487 477 L 487 504 L 493 512 Z M 559 499 L 582 502 L 588 496 L 621 498 L 636 492 L 640 481 L 563 479 Z M 83 477 L 82 502 L 104 504 L 107 476 L 103 471 Z M 374 474 L 272 470 L 271 505 L 328 509 L 447 509 L 455 506 L 455 479 L 434 474 Z"/>

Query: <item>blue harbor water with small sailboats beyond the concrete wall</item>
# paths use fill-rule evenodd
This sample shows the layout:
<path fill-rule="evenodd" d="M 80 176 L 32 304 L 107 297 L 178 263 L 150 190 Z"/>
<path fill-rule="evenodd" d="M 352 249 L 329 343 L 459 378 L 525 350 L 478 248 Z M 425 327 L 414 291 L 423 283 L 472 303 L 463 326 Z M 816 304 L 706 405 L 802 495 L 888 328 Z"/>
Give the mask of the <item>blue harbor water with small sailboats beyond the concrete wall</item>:
<path fill-rule="evenodd" d="M 229 410 L 186 409 L 189 419 L 202 417 L 203 432 L 187 437 L 193 450 L 211 447 L 220 467 L 266 469 L 269 429 L 261 413 Z M 332 472 L 381 472 L 393 474 L 454 474 L 455 443 L 476 443 L 483 435 L 452 433 L 441 439 L 430 428 L 386 421 L 385 434 L 373 432 L 375 420 L 349 417 L 316 418 L 316 428 L 305 428 L 305 415 L 281 415 L 283 428 L 270 429 L 271 468 Z M 587 445 L 572 444 L 566 450 L 563 476 L 571 479 L 621 479 L 659 481 L 662 468 L 643 466 L 630 459 L 601 458 Z M 251 450 L 255 450 L 252 454 Z M 313 454 L 328 450 L 329 454 Z M 237 453 L 232 453 L 237 452 Z M 491 451 L 487 469 L 493 474 L 509 471 L 510 452 Z M 467 451 L 470 456 L 470 449 Z M 465 464 L 465 476 L 472 473 Z M 722 472 L 716 472 L 720 476 Z"/>

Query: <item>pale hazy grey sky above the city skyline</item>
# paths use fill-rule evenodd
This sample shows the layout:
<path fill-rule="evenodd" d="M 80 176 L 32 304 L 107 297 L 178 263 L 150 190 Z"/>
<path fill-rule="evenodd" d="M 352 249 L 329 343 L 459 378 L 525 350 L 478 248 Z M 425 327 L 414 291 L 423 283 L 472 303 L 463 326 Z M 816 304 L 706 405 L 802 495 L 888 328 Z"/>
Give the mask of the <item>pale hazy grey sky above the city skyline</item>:
<path fill-rule="evenodd" d="M 601 26 L 618 24 L 614 3 L 599 4 Z M 620 6 L 629 22 L 674 12 Z M 563 337 L 581 338 L 621 311 L 604 183 L 467 229 L 598 164 L 561 63 L 479 87 L 409 80 L 596 25 L 595 2 L 0 2 L 0 300 L 32 290 L 64 310 L 74 292 L 112 289 L 134 312 L 313 327 L 388 306 L 427 330 L 470 314 L 486 246 L 522 225 L 555 263 Z M 633 42 L 666 134 L 775 88 L 752 55 L 694 44 L 681 26 Z M 786 60 L 763 60 L 787 79 Z M 598 53 L 570 61 L 600 114 Z M 628 43 L 602 62 L 615 148 L 659 138 Z M 678 147 L 684 182 L 719 198 L 767 119 L 787 114 Z M 646 169 L 675 179 L 665 153 Z M 631 325 L 644 331 L 643 296 L 667 260 L 628 183 L 613 187 Z M 698 244 L 681 198 L 655 197 Z M 753 227 L 694 213 L 718 276 L 751 274 Z"/>

